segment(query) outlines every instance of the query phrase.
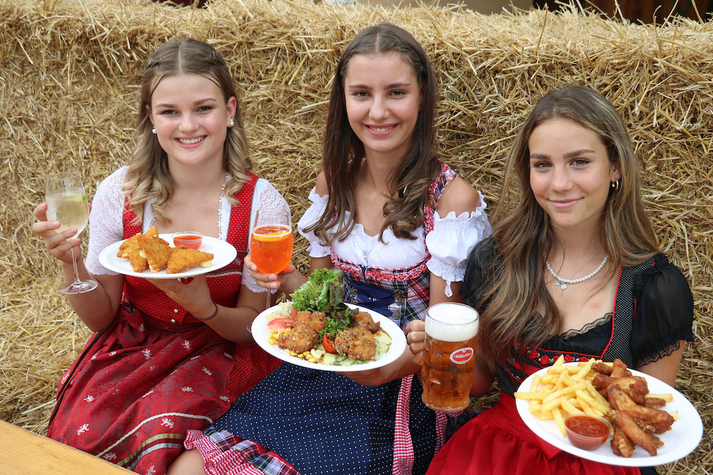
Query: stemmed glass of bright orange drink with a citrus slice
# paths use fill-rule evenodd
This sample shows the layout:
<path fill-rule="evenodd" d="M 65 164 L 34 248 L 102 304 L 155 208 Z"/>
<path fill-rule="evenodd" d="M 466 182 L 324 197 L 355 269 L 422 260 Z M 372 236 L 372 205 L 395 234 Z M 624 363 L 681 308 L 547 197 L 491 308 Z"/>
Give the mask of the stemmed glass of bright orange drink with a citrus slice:
<path fill-rule="evenodd" d="M 250 236 L 250 259 L 261 273 L 280 273 L 292 259 L 292 223 L 284 209 L 263 208 L 255 214 Z M 265 308 L 270 308 L 267 291 Z"/>

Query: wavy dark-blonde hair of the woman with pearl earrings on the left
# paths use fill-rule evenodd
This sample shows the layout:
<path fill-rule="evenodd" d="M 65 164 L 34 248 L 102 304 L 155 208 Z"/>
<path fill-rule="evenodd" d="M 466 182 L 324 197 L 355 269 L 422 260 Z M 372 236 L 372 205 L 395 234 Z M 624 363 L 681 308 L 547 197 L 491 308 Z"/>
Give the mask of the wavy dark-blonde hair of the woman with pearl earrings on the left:
<path fill-rule="evenodd" d="M 212 80 L 222 90 L 225 103 L 236 100 L 235 125 L 227 127 L 223 147 L 222 165 L 230 172 L 225 185 L 225 195 L 230 204 L 237 204 L 235 193 L 240 191 L 252 169 L 247 155 L 247 138 L 242 126 L 240 101 L 237 100 L 235 83 L 220 53 L 202 41 L 190 38 L 171 40 L 154 51 L 148 58 L 141 76 L 141 97 L 138 105 L 138 123 L 135 131 L 135 150 L 129 161 L 123 184 L 123 193 L 128 197 L 131 211 L 143 219 L 143 209 L 149 199 L 156 198 L 151 210 L 154 216 L 170 222 L 163 207 L 173 195 L 173 178 L 168 171 L 168 156 L 151 133 L 153 125 L 147 108 L 151 106 L 153 91 L 163 78 L 170 75 L 198 74 Z"/>

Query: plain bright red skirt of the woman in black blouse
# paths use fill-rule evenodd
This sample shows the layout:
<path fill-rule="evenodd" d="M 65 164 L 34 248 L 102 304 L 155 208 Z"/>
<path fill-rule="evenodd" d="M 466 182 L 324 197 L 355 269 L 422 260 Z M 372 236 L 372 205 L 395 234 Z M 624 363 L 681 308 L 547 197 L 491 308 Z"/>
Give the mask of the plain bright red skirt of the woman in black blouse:
<path fill-rule="evenodd" d="M 623 467 L 582 459 L 543 441 L 525 425 L 515 399 L 500 402 L 465 424 L 431 461 L 426 475 L 640 475 Z"/>

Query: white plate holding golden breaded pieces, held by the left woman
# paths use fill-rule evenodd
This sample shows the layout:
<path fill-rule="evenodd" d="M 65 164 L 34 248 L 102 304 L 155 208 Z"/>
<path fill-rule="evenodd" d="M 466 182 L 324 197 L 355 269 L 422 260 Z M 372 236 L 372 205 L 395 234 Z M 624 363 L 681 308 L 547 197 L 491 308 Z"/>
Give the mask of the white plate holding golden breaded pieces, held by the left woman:
<path fill-rule="evenodd" d="M 165 240 L 169 244 L 173 244 L 173 239 L 170 234 L 159 234 L 161 239 Z M 125 239 L 123 240 L 125 241 Z M 185 278 L 200 276 L 203 273 L 209 273 L 212 271 L 217 271 L 220 268 L 227 266 L 231 263 L 237 256 L 237 251 L 232 244 L 229 244 L 220 239 L 216 239 L 210 236 L 203 236 L 203 241 L 200 243 L 199 251 L 210 252 L 213 255 L 213 265 L 210 267 L 193 266 L 188 268 L 187 271 L 178 273 L 166 273 L 166 269 L 162 269 L 158 272 L 151 272 L 146 269 L 143 272 L 134 272 L 131 268 L 131 264 L 128 259 L 123 259 L 122 257 L 117 257 L 116 253 L 119 251 L 119 246 L 123 241 L 115 242 L 111 246 L 106 246 L 99 253 L 99 262 L 102 266 L 108 268 L 110 271 L 123 273 L 125 276 L 143 277 L 143 278 Z"/>

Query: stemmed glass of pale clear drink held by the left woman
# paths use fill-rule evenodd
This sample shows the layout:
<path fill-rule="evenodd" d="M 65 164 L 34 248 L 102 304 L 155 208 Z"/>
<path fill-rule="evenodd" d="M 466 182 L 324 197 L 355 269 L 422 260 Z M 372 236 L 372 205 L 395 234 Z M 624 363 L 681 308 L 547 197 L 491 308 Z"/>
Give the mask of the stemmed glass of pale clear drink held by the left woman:
<path fill-rule="evenodd" d="M 59 221 L 58 233 L 70 228 L 76 228 L 73 237 L 79 236 L 89 221 L 89 206 L 84 192 L 82 178 L 78 173 L 54 173 L 46 177 L 45 202 L 47 203 L 47 219 Z M 74 248 L 71 249 L 74 281 L 59 289 L 60 293 L 75 294 L 92 291 L 98 285 L 91 279 L 82 281 L 77 272 L 77 262 L 74 259 Z"/>

